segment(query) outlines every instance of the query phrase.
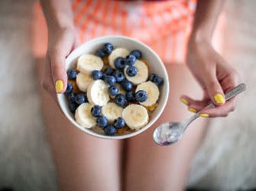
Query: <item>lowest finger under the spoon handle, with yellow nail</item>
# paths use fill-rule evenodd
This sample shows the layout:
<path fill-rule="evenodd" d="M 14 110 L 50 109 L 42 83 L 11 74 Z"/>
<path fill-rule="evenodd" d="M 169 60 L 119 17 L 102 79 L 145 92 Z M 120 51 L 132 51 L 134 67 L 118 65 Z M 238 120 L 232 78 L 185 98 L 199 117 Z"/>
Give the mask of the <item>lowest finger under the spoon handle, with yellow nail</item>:
<path fill-rule="evenodd" d="M 204 108 L 199 112 L 201 117 L 226 117 L 235 110 L 236 99 L 233 98 L 223 105 L 217 105 L 215 108 Z"/>

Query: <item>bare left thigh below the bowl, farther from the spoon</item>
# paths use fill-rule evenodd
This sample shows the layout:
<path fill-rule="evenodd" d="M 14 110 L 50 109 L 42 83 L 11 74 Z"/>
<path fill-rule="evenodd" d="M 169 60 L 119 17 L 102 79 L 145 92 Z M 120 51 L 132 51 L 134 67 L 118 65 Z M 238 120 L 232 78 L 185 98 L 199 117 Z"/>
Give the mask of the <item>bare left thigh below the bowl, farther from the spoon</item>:
<path fill-rule="evenodd" d="M 37 68 L 41 78 L 44 60 Z M 120 190 L 122 142 L 93 138 L 73 127 L 48 92 L 40 91 L 60 190 Z"/>

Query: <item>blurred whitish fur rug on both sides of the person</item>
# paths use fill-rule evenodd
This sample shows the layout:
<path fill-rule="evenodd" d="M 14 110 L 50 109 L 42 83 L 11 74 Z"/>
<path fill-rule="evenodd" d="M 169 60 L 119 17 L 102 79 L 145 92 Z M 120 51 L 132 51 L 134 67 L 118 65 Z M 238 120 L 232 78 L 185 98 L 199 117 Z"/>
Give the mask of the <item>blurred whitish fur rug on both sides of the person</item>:
<path fill-rule="evenodd" d="M 0 188 L 57 190 L 41 119 L 31 53 L 32 0 L 0 2 Z M 228 1 L 222 44 L 248 90 L 228 118 L 215 118 L 188 185 L 212 190 L 256 188 L 256 14 L 254 0 Z"/>

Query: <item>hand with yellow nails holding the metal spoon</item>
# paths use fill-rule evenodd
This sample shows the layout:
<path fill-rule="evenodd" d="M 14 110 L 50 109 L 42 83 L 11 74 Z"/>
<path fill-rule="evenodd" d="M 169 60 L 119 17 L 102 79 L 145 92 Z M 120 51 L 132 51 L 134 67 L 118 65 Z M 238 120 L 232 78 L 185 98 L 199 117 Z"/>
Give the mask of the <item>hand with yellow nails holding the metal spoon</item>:
<path fill-rule="evenodd" d="M 200 112 L 202 117 L 224 117 L 234 111 L 236 99 L 225 102 L 224 94 L 238 85 L 238 73 L 213 49 L 209 40 L 197 42 L 190 39 L 186 62 L 204 91 L 204 98 L 200 101 L 182 96 L 181 101 L 188 105 L 189 110 L 198 112 L 212 101 L 217 106 L 203 109 Z"/>

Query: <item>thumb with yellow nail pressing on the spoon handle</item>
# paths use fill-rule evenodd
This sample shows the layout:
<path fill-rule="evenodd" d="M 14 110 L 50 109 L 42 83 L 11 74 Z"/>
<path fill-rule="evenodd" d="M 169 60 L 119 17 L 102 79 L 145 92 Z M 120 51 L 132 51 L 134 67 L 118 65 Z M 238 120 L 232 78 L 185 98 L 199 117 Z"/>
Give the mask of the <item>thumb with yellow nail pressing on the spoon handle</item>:
<path fill-rule="evenodd" d="M 225 103 L 225 95 L 222 86 L 214 73 L 206 74 L 204 84 L 209 98 L 212 99 L 212 102 L 214 102 L 215 105 L 222 105 Z"/>

